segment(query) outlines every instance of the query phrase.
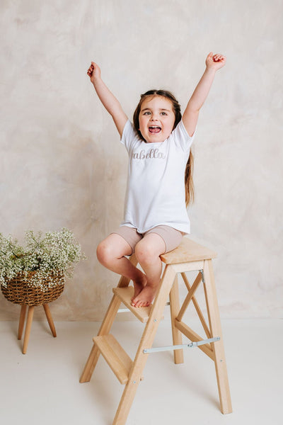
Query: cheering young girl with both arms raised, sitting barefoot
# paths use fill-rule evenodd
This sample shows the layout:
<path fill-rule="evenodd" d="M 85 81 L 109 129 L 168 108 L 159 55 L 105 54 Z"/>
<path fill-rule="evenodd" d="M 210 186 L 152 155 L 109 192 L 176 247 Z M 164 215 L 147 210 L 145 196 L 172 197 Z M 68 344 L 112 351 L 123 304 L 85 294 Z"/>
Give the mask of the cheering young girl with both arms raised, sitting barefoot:
<path fill-rule="evenodd" d="M 132 279 L 134 307 L 154 300 L 161 279 L 159 256 L 175 249 L 190 233 L 186 205 L 192 200 L 192 154 L 197 118 L 226 57 L 209 53 L 206 69 L 187 103 L 183 117 L 173 94 L 150 90 L 141 95 L 130 123 L 117 98 L 105 86 L 100 68 L 88 68 L 96 93 L 114 123 L 129 154 L 125 216 L 119 229 L 97 248 L 103 266 Z M 127 256 L 135 252 L 144 273 Z"/>

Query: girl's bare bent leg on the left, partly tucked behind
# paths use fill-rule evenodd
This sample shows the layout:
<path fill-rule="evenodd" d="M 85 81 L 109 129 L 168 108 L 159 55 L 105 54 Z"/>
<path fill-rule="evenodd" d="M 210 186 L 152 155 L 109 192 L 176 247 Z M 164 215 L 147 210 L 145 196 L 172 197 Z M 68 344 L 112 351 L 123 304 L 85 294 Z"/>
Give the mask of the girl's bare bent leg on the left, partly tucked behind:
<path fill-rule="evenodd" d="M 112 233 L 98 245 L 96 251 L 98 261 L 109 270 L 114 271 L 134 283 L 134 297 L 141 292 L 146 285 L 146 276 L 139 268 L 125 257 L 131 255 L 132 249 L 120 234 Z"/>

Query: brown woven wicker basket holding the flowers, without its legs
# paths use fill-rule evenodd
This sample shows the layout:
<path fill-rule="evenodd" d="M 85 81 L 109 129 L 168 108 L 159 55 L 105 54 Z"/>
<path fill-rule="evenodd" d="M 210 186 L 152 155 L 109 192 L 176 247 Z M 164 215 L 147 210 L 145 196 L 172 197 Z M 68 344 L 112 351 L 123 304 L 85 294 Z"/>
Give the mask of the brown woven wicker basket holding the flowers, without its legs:
<path fill-rule="evenodd" d="M 6 280 L 6 286 L 1 285 L 4 297 L 20 305 L 44 305 L 57 300 L 64 290 L 63 273 L 51 273 L 48 278 L 42 278 L 40 285 L 29 282 L 29 277 L 35 278 L 35 271 L 30 271 L 28 276 L 23 273 L 16 278 Z"/>

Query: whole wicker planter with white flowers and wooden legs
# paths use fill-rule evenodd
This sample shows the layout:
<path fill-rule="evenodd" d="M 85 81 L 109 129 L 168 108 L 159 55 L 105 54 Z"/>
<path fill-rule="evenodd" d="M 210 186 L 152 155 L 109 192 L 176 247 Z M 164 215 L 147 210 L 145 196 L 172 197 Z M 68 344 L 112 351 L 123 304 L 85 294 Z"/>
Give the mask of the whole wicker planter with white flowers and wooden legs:
<path fill-rule="evenodd" d="M 64 280 L 73 277 L 74 266 L 86 256 L 73 232 L 63 227 L 55 232 L 25 232 L 25 244 L 21 245 L 11 234 L 0 233 L 0 285 L 4 297 L 21 305 L 18 339 L 25 324 L 23 354 L 28 348 L 30 328 L 35 306 L 45 310 L 52 335 L 56 336 L 49 303 L 56 300 L 64 290 Z"/>

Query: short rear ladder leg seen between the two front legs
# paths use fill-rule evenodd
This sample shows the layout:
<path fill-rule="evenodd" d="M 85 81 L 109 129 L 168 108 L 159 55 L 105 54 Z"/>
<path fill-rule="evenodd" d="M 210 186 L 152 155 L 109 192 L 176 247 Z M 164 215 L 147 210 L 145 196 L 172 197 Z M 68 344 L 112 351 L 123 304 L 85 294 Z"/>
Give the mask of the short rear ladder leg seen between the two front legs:
<path fill-rule="evenodd" d="M 172 337 L 173 345 L 181 345 L 182 343 L 182 332 L 175 327 L 175 319 L 180 311 L 180 300 L 179 300 L 179 288 L 178 288 L 178 276 L 175 276 L 173 286 L 170 294 L 170 311 L 171 311 L 171 326 L 172 326 Z M 174 350 L 174 361 L 175 364 L 184 363 L 183 350 Z"/>

